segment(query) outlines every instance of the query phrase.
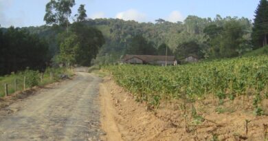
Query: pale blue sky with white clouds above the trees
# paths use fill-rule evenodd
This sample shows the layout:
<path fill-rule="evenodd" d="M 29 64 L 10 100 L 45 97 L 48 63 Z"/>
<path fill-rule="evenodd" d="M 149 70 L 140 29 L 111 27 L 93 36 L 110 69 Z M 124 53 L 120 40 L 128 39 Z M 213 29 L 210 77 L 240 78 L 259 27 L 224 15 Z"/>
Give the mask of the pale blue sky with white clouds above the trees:
<path fill-rule="evenodd" d="M 0 0 L 0 25 L 8 28 L 44 25 L 45 5 L 49 0 Z M 202 18 L 216 14 L 221 17 L 245 17 L 254 19 L 258 0 L 76 0 L 72 17 L 80 4 L 85 4 L 87 16 L 118 18 L 139 22 L 183 21 L 188 15 Z M 72 20 L 71 20 L 72 21 Z"/>

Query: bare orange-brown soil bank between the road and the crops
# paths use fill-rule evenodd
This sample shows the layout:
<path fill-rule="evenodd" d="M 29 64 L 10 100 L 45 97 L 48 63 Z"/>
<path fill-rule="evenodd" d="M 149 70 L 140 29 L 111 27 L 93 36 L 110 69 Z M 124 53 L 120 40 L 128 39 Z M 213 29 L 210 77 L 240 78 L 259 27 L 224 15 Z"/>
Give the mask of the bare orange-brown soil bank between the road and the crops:
<path fill-rule="evenodd" d="M 252 98 L 243 105 L 242 98 L 217 106 L 212 98 L 186 104 L 161 102 L 157 110 L 116 85 L 111 76 L 100 84 L 101 124 L 106 135 L 102 140 L 265 140 L 264 124 L 268 116 L 254 116 Z M 268 101 L 261 105 L 265 112 Z M 203 122 L 191 117 L 192 107 Z M 218 109 L 218 112 L 215 110 Z M 185 116 L 183 116 L 185 115 Z M 245 129 L 245 120 L 250 120 Z M 268 129 L 266 129 L 268 130 Z M 268 132 L 268 131 L 267 131 Z M 268 134 L 268 133 L 267 133 Z M 267 137 L 268 138 L 268 137 Z"/>

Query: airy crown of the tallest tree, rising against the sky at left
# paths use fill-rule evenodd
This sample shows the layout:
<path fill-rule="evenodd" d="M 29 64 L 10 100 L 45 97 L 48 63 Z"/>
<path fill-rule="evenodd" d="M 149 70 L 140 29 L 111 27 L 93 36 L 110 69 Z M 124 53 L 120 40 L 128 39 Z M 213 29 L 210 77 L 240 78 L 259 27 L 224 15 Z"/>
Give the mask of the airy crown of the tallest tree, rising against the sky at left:
<path fill-rule="evenodd" d="M 66 26 L 68 30 L 71 8 L 75 0 L 50 0 L 45 6 L 44 21 L 48 25 L 57 24 Z"/>

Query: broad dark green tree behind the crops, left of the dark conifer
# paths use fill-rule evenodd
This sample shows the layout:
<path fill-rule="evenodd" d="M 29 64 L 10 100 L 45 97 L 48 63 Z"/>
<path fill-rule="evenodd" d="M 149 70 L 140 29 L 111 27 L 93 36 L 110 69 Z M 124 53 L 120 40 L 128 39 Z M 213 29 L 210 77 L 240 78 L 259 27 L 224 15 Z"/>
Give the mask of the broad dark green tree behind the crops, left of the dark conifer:
<path fill-rule="evenodd" d="M 210 45 L 210 57 L 224 58 L 238 56 L 245 50 L 247 40 L 245 35 L 245 25 L 237 19 L 225 21 L 223 27 L 209 25 L 204 32 L 208 36 L 208 45 Z"/>

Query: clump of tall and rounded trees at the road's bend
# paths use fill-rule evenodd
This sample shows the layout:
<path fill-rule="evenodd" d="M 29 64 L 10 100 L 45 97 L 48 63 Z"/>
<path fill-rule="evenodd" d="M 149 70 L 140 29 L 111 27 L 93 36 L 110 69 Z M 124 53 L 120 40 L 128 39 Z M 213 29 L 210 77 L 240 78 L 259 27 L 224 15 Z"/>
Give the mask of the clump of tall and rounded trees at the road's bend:
<path fill-rule="evenodd" d="M 85 25 L 87 18 L 85 5 L 81 4 L 74 23 L 69 23 L 71 8 L 76 5 L 75 0 L 50 0 L 45 7 L 44 21 L 58 30 L 58 53 L 54 55 L 54 63 L 90 66 L 91 60 L 96 58 L 98 50 L 104 44 L 102 32 Z"/>

